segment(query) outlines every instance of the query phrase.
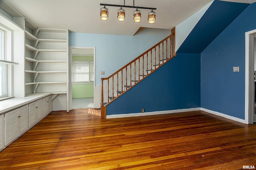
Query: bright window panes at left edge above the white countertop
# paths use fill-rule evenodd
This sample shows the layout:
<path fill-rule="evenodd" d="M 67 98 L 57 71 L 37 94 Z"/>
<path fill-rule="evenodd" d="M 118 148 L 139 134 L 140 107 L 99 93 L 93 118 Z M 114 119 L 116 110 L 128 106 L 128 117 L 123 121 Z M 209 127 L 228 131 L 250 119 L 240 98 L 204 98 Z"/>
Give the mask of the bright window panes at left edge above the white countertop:
<path fill-rule="evenodd" d="M 6 61 L 5 56 L 5 38 L 6 33 L 0 29 L 0 60 Z M 0 63 L 0 98 L 7 97 L 7 65 Z"/>

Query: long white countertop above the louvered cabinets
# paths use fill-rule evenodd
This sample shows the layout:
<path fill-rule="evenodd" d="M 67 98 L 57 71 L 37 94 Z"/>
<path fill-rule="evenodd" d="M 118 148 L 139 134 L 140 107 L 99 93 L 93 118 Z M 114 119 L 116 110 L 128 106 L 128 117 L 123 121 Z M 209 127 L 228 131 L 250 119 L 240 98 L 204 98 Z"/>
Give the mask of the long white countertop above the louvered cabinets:
<path fill-rule="evenodd" d="M 46 96 L 51 95 L 51 92 L 47 93 L 33 93 L 29 94 L 28 96 L 24 98 L 10 98 L 6 100 L 0 101 L 0 114 L 5 113 L 7 111 L 16 109 L 20 106 L 24 106 L 26 104 L 29 104 L 31 102 L 34 102 L 40 98 L 44 98 Z"/>

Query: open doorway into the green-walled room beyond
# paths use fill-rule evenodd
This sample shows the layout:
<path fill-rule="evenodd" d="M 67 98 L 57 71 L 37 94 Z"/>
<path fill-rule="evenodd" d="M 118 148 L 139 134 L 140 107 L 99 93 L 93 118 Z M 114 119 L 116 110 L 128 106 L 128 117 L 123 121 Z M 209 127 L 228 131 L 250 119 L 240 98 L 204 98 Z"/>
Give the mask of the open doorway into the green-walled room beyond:
<path fill-rule="evenodd" d="M 72 109 L 94 108 L 95 48 L 71 47 Z"/>

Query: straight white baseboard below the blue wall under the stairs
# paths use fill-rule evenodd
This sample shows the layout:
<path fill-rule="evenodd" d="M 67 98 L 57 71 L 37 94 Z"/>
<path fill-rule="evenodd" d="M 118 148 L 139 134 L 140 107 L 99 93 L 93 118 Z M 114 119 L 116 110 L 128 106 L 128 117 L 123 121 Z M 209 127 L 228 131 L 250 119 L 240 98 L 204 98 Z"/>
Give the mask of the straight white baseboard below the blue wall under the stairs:
<path fill-rule="evenodd" d="M 165 111 L 152 111 L 144 113 L 128 113 L 128 114 L 118 114 L 118 115 L 107 115 L 107 119 L 120 118 L 120 117 L 135 117 L 135 116 L 147 116 L 147 115 L 162 115 L 168 113 L 180 113 L 186 111 L 197 111 L 201 110 L 200 107 L 190 108 L 190 109 L 177 109 L 177 110 L 165 110 Z"/>

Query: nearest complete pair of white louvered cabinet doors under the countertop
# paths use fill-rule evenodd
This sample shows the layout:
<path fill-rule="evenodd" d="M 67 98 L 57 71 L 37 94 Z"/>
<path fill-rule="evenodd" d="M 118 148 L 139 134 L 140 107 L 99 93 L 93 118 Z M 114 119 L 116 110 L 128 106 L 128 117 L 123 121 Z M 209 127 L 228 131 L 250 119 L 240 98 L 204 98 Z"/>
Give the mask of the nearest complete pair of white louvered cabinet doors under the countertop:
<path fill-rule="evenodd" d="M 28 105 L 5 113 L 5 145 L 28 130 Z"/>

